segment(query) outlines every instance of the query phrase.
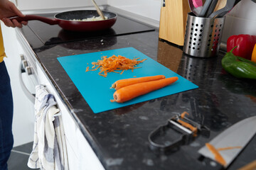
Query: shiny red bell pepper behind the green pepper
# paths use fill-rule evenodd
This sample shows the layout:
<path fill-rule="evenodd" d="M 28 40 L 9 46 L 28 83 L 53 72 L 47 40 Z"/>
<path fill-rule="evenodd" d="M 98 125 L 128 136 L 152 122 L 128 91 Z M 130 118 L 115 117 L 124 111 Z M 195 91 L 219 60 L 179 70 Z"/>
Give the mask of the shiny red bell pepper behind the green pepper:
<path fill-rule="evenodd" d="M 251 60 L 252 50 L 255 43 L 256 35 L 232 35 L 228 38 L 227 41 L 227 52 L 230 52 L 233 47 L 238 46 L 233 50 L 233 54 L 239 57 L 243 57 L 247 60 Z"/>

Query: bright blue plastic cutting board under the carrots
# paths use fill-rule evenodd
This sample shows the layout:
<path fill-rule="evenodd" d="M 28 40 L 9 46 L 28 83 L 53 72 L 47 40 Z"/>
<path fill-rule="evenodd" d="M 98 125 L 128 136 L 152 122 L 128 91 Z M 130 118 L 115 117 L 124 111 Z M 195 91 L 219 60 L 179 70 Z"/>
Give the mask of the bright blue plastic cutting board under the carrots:
<path fill-rule="evenodd" d="M 97 71 L 85 72 L 86 67 L 92 67 L 92 62 L 101 60 L 102 56 L 111 57 L 112 55 L 122 55 L 129 59 L 140 57 L 139 60 L 147 60 L 139 64 L 138 67 L 142 68 L 134 69 L 134 72 L 132 72 L 132 70 L 124 71 L 123 74 L 111 72 L 107 74 L 107 77 L 102 77 L 98 74 L 100 69 Z M 121 108 L 124 106 L 132 105 L 134 103 L 149 101 L 154 98 L 168 96 L 171 94 L 179 93 L 181 91 L 188 91 L 198 88 L 196 84 L 193 84 L 175 72 L 172 72 L 170 69 L 159 64 L 155 60 L 152 60 L 150 57 L 147 57 L 142 52 L 139 52 L 133 47 L 93 52 L 82 55 L 58 57 L 58 61 L 65 69 L 65 72 L 68 73 L 68 76 L 78 88 L 94 113 L 100 113 L 102 111 L 108 111 L 114 108 Z M 163 89 L 153 91 L 149 94 L 145 94 L 144 96 L 139 96 L 125 103 L 110 102 L 110 99 L 113 99 L 114 94 L 114 89 L 110 89 L 110 87 L 114 81 L 119 79 L 154 75 L 164 75 L 166 78 L 178 77 L 178 81 L 176 81 L 174 84 L 171 84 L 170 86 L 164 87 Z"/>

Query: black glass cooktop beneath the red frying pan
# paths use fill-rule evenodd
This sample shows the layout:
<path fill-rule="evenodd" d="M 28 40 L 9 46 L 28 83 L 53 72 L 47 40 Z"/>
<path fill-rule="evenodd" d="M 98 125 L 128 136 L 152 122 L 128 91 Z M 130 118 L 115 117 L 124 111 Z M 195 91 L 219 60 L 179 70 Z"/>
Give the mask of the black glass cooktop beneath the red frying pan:
<path fill-rule="evenodd" d="M 44 14 L 48 18 L 53 18 L 54 14 Z M 41 21 L 28 21 L 28 27 L 35 33 L 45 45 L 71 42 L 77 40 L 87 40 L 92 38 L 104 38 L 109 36 L 127 35 L 132 33 L 142 33 L 153 31 L 154 28 L 143 23 L 133 21 L 124 16 L 117 16 L 117 21 L 112 28 L 96 32 L 73 32 L 63 30 L 58 25 L 49 25 Z"/>

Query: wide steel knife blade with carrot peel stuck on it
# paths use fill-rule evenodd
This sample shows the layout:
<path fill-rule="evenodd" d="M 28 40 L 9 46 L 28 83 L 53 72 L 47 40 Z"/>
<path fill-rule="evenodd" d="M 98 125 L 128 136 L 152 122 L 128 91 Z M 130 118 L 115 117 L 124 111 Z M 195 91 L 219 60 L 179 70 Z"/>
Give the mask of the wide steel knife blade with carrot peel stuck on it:
<path fill-rule="evenodd" d="M 204 169 L 225 169 L 244 149 L 247 143 L 252 139 L 256 132 L 256 116 L 241 120 L 235 125 L 232 125 L 227 130 L 224 130 L 217 137 L 209 142 L 215 149 L 218 149 L 218 154 L 224 159 L 225 164 L 218 161 L 216 154 L 213 154 L 208 147 L 199 149 L 199 153 L 204 157 Z M 221 150 L 222 149 L 222 150 Z"/>

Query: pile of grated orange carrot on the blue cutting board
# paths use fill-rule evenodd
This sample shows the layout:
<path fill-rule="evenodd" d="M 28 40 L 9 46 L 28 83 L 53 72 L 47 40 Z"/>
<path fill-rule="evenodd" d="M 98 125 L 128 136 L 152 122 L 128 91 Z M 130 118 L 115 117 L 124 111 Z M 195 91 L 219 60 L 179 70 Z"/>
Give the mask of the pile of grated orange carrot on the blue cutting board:
<path fill-rule="evenodd" d="M 123 74 L 123 72 L 127 69 L 138 69 L 141 67 L 137 67 L 137 64 L 144 62 L 144 60 L 139 61 L 139 57 L 134 59 L 129 59 L 127 57 L 123 57 L 121 55 L 112 55 L 111 57 L 103 56 L 102 60 L 97 60 L 97 62 L 92 62 L 92 69 L 87 68 L 85 72 L 95 71 L 100 68 L 100 76 L 107 77 L 108 72 L 115 72 L 119 74 Z M 95 68 L 96 67 L 96 68 Z M 95 68 L 95 69 L 93 69 Z M 121 72 L 117 72 L 118 70 L 122 70 Z"/>

